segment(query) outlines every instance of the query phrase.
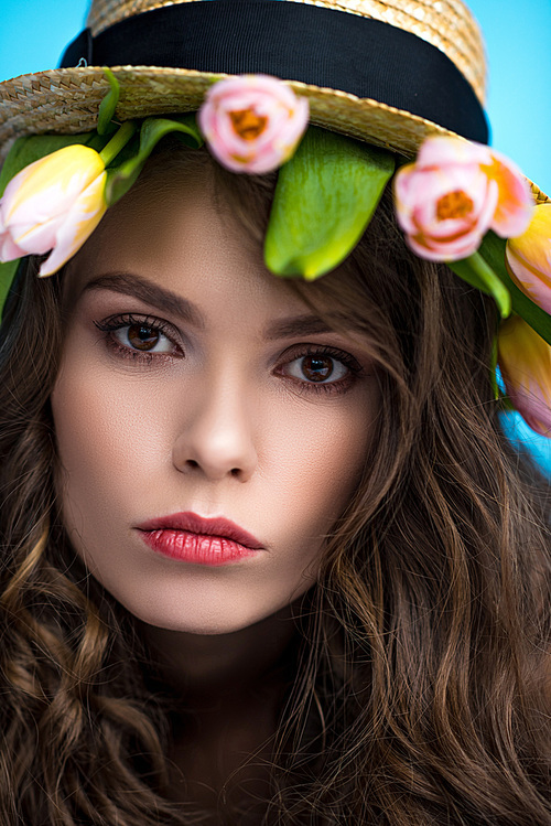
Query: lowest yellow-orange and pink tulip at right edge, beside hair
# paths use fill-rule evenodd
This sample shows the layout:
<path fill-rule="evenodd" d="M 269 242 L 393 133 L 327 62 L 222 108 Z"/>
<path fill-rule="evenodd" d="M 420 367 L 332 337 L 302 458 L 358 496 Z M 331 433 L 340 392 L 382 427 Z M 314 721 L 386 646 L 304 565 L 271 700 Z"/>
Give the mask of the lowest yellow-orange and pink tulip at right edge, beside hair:
<path fill-rule="evenodd" d="M 526 423 L 551 437 L 551 347 L 519 315 L 501 324 L 498 362 L 507 394 Z"/>

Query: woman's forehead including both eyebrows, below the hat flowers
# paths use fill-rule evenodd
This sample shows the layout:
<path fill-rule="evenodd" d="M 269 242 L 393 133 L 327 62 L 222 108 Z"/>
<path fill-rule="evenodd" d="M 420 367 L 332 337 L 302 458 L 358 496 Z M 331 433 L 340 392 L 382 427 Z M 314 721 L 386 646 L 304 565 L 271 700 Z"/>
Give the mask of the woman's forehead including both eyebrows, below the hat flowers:
<path fill-rule="evenodd" d="M 247 315 L 258 322 L 262 339 L 296 335 L 301 328 L 307 335 L 346 330 L 357 339 L 349 301 L 342 305 L 338 300 L 349 279 L 346 266 L 295 289 L 296 283 L 267 269 L 261 238 L 236 215 L 229 189 L 236 175 L 220 182 L 208 157 L 199 163 L 184 153 L 171 155 L 166 165 L 160 160 L 107 212 L 67 265 L 64 302 L 69 311 L 102 285 L 163 311 L 185 304 L 192 308 L 181 313 L 185 319 Z M 269 189 L 239 184 L 239 210 L 250 211 L 252 225 L 260 223 L 259 196 L 269 202 Z M 365 339 L 365 318 L 359 326 Z"/>

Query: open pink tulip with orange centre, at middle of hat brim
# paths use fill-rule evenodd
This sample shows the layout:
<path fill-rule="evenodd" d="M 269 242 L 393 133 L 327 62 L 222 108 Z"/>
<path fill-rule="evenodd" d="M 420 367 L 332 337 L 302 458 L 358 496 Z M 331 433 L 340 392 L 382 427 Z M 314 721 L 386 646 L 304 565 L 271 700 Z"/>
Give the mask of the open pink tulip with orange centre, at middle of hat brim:
<path fill-rule="evenodd" d="M 263 174 L 294 152 L 309 120 L 309 103 L 276 77 L 241 75 L 214 84 L 198 125 L 217 161 L 233 172 Z"/>

